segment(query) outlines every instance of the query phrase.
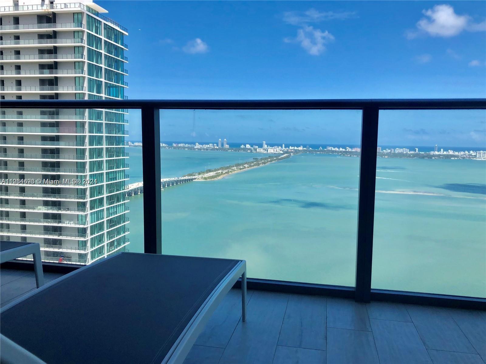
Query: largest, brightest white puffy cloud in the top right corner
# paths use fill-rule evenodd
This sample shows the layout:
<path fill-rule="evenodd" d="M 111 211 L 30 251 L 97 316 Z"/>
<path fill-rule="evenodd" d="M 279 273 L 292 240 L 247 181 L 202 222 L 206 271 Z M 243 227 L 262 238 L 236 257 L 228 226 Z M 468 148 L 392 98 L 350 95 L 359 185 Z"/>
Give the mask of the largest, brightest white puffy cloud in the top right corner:
<path fill-rule="evenodd" d="M 418 35 L 451 37 L 463 31 L 481 32 L 486 30 L 486 22 L 474 23 L 469 15 L 458 15 L 448 4 L 435 5 L 432 9 L 422 10 L 426 16 L 421 18 L 416 26 L 417 30 L 407 31 L 408 39 Z"/>

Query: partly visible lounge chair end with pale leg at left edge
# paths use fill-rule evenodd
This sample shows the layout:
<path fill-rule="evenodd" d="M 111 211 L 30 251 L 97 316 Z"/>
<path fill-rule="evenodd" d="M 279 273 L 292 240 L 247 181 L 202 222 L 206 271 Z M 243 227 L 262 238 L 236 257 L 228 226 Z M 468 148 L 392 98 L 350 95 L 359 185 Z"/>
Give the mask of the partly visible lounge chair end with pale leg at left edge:
<path fill-rule="evenodd" d="M 39 288 L 44 284 L 39 244 L 6 241 L 0 242 L 0 263 L 24 257 L 29 254 L 32 254 L 34 257 L 35 285 Z"/>

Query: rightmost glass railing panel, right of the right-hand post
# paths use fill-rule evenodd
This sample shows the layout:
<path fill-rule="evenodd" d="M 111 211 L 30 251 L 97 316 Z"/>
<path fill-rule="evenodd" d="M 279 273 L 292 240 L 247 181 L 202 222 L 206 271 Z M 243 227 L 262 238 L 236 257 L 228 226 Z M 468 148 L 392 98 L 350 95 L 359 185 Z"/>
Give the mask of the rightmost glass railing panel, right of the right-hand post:
<path fill-rule="evenodd" d="M 380 112 L 372 288 L 486 297 L 485 122 Z"/>

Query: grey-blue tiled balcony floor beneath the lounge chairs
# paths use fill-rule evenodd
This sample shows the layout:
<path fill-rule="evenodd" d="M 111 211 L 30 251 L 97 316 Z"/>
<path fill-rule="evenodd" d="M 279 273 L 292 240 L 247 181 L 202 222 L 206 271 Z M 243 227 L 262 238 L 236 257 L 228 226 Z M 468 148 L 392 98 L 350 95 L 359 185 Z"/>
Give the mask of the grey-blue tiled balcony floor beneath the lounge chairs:
<path fill-rule="evenodd" d="M 46 273 L 47 281 L 61 274 Z M 35 289 L 34 273 L 0 270 L 0 304 Z M 486 312 L 249 291 L 220 304 L 185 364 L 485 364 Z"/>

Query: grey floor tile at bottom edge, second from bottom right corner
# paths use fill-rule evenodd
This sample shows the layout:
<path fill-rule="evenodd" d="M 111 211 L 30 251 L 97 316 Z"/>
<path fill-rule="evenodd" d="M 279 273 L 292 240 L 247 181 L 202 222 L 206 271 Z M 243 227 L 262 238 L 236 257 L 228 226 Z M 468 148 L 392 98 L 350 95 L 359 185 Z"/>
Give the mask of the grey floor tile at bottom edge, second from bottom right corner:
<path fill-rule="evenodd" d="M 432 363 L 413 323 L 370 321 L 381 364 Z"/>

